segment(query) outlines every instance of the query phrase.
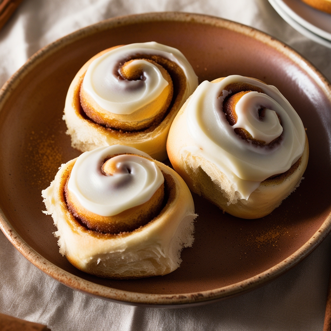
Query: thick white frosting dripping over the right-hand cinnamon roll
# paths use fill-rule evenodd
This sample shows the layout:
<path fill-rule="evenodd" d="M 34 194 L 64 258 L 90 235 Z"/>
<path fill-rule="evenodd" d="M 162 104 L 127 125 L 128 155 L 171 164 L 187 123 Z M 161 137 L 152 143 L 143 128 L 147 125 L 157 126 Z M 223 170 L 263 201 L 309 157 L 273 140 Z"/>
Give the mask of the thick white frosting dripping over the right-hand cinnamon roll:
<path fill-rule="evenodd" d="M 235 108 L 238 121 L 231 126 L 222 103 L 229 94 L 225 86 L 234 82 L 258 86 L 265 94 L 245 94 Z M 266 108 L 262 120 L 258 116 L 261 107 Z M 280 116 L 281 127 L 275 112 Z M 196 145 L 185 149 L 216 165 L 246 200 L 261 181 L 287 171 L 303 154 L 306 141 L 299 115 L 276 87 L 239 75 L 217 83 L 201 83 L 187 105 L 187 126 Z M 272 147 L 257 146 L 237 135 L 235 127 L 245 128 L 254 138 L 267 143 L 279 134 L 282 137 Z"/>

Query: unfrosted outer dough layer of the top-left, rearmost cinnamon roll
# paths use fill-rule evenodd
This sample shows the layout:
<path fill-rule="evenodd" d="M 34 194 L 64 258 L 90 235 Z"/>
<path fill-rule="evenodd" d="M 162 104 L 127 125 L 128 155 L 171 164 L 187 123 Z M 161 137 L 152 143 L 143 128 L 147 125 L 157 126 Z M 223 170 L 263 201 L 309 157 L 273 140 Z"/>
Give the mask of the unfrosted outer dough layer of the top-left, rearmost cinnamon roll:
<path fill-rule="evenodd" d="M 176 75 L 176 83 L 173 81 L 174 87 L 176 85 L 174 97 L 165 117 L 156 127 L 151 126 L 140 131 L 124 131 L 107 128 L 86 116 L 80 104 L 79 94 L 83 78 L 89 65 L 96 58 L 117 47 L 119 46 L 106 49 L 92 57 L 77 72 L 71 82 L 66 97 L 63 116 L 68 128 L 67 133 L 71 136 L 71 146 L 82 152 L 86 152 L 101 146 L 122 144 L 141 150 L 150 155 L 153 159 L 163 161 L 167 158 L 166 139 L 171 123 L 185 100 L 198 86 L 198 80 L 196 79 L 196 82 L 190 82 L 190 84 L 188 84 L 183 72 Z M 177 67 L 177 69 L 180 69 L 179 66 Z"/>

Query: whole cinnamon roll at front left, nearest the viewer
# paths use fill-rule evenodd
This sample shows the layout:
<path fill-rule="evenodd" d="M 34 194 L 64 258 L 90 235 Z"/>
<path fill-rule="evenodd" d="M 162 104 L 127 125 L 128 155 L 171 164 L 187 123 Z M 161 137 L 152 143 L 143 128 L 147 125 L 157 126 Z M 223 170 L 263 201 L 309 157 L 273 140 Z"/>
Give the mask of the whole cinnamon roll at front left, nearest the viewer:
<path fill-rule="evenodd" d="M 107 278 L 167 274 L 193 243 L 194 204 L 180 176 L 135 148 L 113 145 L 61 166 L 42 191 L 60 253 Z"/>

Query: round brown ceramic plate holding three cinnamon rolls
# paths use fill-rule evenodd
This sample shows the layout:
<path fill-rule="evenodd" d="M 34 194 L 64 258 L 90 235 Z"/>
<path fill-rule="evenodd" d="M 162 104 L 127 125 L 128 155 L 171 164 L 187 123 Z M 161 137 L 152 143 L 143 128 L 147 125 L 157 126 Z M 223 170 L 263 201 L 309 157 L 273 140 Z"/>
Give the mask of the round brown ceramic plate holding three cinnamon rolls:
<path fill-rule="evenodd" d="M 272 214 L 257 220 L 223 214 L 194 195 L 195 242 L 166 275 L 110 280 L 74 268 L 59 254 L 41 190 L 70 146 L 62 113 L 75 73 L 101 50 L 157 41 L 184 53 L 200 82 L 230 74 L 275 85 L 301 116 L 309 139 L 305 180 Z M 219 18 L 152 13 L 107 20 L 76 31 L 33 55 L 0 94 L 0 222 L 13 245 L 63 284 L 107 300 L 184 307 L 238 295 L 304 259 L 331 226 L 331 88 L 288 46 L 253 28 Z"/>

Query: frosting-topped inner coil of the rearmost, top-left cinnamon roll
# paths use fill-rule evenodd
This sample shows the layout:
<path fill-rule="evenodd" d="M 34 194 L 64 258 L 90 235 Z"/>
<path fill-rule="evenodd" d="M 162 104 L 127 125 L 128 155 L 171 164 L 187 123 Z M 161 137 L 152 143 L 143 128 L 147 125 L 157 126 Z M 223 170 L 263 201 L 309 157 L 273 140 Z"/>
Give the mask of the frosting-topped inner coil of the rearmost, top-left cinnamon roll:
<path fill-rule="evenodd" d="M 175 48 L 147 42 L 111 49 L 86 71 L 80 92 L 84 112 L 115 129 L 132 131 L 158 125 L 176 92 L 169 68 L 177 68 L 188 89 L 194 89 L 197 77 Z"/>

